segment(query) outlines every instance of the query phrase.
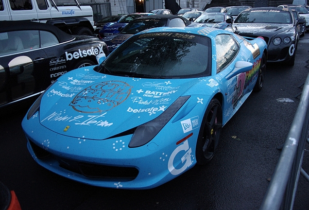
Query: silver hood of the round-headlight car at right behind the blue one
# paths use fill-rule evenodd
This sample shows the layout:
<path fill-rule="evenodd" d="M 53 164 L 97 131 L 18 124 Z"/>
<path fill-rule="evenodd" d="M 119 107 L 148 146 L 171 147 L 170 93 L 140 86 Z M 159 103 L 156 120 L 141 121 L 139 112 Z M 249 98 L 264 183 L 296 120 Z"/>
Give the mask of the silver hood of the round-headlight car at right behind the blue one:
<path fill-rule="evenodd" d="M 238 35 L 260 35 L 271 37 L 280 32 L 292 30 L 292 24 L 276 23 L 233 23 L 232 27 Z"/>

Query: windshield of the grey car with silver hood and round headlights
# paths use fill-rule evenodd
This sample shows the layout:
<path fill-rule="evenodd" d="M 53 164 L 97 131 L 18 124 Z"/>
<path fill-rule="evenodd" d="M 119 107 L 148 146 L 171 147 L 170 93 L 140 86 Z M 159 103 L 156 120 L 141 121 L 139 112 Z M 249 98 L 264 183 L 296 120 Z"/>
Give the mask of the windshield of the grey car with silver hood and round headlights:
<path fill-rule="evenodd" d="M 234 23 L 292 23 L 291 13 L 279 10 L 244 11 L 235 19 Z"/>

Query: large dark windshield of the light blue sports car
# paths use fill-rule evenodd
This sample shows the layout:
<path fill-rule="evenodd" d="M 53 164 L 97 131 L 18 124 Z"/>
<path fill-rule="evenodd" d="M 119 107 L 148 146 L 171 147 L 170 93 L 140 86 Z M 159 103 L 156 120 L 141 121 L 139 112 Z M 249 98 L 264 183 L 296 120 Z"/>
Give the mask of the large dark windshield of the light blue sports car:
<path fill-rule="evenodd" d="M 206 36 L 149 33 L 122 43 L 98 71 L 127 77 L 193 78 L 210 75 L 211 57 L 210 39 Z"/>

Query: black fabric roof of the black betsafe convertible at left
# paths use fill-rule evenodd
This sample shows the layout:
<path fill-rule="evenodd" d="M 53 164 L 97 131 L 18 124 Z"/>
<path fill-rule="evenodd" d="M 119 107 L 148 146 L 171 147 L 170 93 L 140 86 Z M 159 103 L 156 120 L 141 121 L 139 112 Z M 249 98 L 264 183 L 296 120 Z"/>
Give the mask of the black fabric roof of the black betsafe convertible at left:
<path fill-rule="evenodd" d="M 21 31 L 21 30 L 43 30 L 48 31 L 54 34 L 59 42 L 69 41 L 73 38 L 72 35 L 69 35 L 56 26 L 53 26 L 48 23 L 39 23 L 39 22 L 32 22 L 32 21 L 25 21 L 25 20 L 5 20 L 0 21 L 0 33 L 9 32 L 9 31 Z"/>

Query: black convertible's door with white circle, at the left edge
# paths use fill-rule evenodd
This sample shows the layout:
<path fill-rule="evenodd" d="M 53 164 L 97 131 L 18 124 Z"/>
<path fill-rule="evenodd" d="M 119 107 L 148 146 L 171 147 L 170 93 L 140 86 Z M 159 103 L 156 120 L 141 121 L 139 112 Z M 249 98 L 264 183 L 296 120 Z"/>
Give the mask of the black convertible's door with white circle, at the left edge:
<path fill-rule="evenodd" d="M 39 44 L 37 30 L 0 33 L 0 105 L 42 91 L 48 61 Z"/>

